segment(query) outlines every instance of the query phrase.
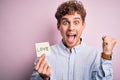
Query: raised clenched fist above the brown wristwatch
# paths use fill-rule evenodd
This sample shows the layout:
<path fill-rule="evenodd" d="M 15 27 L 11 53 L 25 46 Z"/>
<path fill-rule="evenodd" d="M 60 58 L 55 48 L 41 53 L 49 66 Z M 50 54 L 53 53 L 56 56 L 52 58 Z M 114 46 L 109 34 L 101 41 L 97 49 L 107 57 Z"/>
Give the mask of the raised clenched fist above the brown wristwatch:
<path fill-rule="evenodd" d="M 112 50 L 116 44 L 116 39 L 108 36 L 103 36 L 102 40 L 103 40 L 103 53 L 105 53 L 106 55 L 111 55 Z"/>

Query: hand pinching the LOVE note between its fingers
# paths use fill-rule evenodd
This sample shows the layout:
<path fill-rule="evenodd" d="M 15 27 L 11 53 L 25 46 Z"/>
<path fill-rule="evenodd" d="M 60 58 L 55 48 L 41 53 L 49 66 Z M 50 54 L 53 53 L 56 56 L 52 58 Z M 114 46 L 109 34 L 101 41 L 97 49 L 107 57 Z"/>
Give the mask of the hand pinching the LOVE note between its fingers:
<path fill-rule="evenodd" d="M 38 73 L 43 77 L 44 80 L 48 80 L 50 77 L 50 66 L 48 65 L 47 61 L 45 61 L 45 54 L 43 54 L 36 66 L 34 67 L 36 71 L 38 71 Z"/>

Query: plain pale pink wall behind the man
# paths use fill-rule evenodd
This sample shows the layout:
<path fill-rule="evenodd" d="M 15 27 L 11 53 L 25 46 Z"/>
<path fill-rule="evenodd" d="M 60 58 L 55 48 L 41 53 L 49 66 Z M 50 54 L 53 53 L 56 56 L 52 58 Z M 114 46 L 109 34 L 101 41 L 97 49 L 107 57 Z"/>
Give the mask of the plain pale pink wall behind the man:
<path fill-rule="evenodd" d="M 58 43 L 54 13 L 65 0 L 0 0 L 0 80 L 29 80 L 35 43 Z M 82 0 L 86 10 L 83 40 L 101 48 L 103 35 L 114 36 L 114 80 L 120 79 L 120 0 Z"/>

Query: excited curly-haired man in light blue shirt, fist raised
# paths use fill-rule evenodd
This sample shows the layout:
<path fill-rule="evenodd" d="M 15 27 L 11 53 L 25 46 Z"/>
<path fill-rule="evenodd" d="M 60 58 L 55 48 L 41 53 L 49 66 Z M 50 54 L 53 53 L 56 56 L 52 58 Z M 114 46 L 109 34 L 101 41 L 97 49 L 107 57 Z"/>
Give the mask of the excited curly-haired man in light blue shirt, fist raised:
<path fill-rule="evenodd" d="M 36 62 L 31 80 L 112 80 L 112 50 L 116 40 L 103 36 L 103 51 L 86 45 L 81 38 L 86 11 L 81 2 L 66 1 L 55 14 L 62 35 L 51 46 L 50 56 Z"/>

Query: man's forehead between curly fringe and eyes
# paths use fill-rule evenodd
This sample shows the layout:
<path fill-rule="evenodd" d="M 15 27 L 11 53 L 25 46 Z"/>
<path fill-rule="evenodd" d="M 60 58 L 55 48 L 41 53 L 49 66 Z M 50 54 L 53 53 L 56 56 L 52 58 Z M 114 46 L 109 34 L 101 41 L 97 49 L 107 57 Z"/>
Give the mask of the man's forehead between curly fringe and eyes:
<path fill-rule="evenodd" d="M 61 18 L 61 20 L 76 20 L 76 19 L 82 20 L 80 14 L 78 14 L 78 13 L 74 13 L 74 14 L 71 14 L 71 15 L 66 14 L 65 16 L 63 16 Z"/>

